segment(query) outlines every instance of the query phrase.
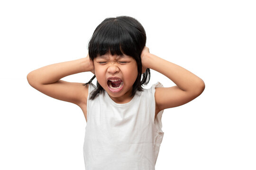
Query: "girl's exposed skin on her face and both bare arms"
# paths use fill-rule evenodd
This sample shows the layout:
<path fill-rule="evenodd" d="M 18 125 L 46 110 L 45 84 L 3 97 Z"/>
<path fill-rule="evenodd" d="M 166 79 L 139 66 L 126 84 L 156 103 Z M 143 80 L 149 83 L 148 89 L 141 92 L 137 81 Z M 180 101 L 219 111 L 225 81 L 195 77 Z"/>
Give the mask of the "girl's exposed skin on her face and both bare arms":
<path fill-rule="evenodd" d="M 128 63 L 122 65 L 118 56 L 107 55 L 105 59 L 106 65 L 101 65 L 97 59 L 91 61 L 89 55 L 81 59 L 51 64 L 29 72 L 27 81 L 29 85 L 50 97 L 78 105 L 87 121 L 88 86 L 84 86 L 84 83 L 67 82 L 61 78 L 91 71 L 113 101 L 129 102 L 131 97 L 128 94 L 131 93 L 131 86 L 137 77 L 136 61 L 126 58 Z M 141 53 L 141 61 L 143 72 L 146 68 L 153 69 L 176 84 L 172 87 L 155 88 L 155 117 L 159 111 L 190 102 L 204 91 L 205 84 L 201 78 L 185 68 L 151 54 L 146 46 Z M 109 91 L 107 87 L 109 76 L 118 76 L 124 81 L 122 91 L 119 93 Z"/>

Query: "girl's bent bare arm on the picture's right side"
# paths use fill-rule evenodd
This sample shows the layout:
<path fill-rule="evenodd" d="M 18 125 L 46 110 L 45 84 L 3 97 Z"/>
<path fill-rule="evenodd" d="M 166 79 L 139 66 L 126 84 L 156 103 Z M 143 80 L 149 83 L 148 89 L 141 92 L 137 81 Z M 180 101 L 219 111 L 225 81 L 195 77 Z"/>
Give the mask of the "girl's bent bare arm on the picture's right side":
<path fill-rule="evenodd" d="M 172 87 L 155 88 L 156 113 L 190 102 L 204 91 L 205 84 L 201 78 L 185 68 L 149 53 L 146 46 L 141 53 L 141 61 L 143 72 L 146 68 L 154 69 L 176 84 Z"/>

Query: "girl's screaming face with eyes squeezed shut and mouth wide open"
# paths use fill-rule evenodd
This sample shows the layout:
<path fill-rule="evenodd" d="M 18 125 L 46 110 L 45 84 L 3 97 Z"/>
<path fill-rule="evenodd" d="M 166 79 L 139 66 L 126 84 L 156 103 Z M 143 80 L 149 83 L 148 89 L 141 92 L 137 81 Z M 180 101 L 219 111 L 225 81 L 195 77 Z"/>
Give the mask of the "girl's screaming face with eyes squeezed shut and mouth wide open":
<path fill-rule="evenodd" d="M 132 85 L 137 79 L 137 63 L 130 56 L 105 54 L 93 60 L 99 84 L 117 103 L 131 100 Z"/>

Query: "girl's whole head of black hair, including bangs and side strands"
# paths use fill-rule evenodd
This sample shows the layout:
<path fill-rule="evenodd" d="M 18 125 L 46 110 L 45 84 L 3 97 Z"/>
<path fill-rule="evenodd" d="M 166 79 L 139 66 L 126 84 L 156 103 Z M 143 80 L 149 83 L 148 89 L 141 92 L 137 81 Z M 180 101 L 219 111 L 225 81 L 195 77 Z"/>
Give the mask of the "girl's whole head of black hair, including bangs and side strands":
<path fill-rule="evenodd" d="M 142 74 L 141 52 L 146 45 L 146 32 L 137 19 L 128 16 L 109 17 L 104 19 L 96 27 L 88 44 L 88 53 L 91 60 L 99 55 L 111 53 L 111 55 L 126 54 L 137 62 L 138 76 L 132 87 L 131 96 L 138 91 L 143 91 L 142 85 L 150 80 L 150 69 L 146 68 Z M 142 78 L 141 78 L 142 76 Z M 83 85 L 88 85 L 95 78 Z M 97 89 L 91 93 L 90 99 L 94 99 L 103 89 L 97 81 Z"/>

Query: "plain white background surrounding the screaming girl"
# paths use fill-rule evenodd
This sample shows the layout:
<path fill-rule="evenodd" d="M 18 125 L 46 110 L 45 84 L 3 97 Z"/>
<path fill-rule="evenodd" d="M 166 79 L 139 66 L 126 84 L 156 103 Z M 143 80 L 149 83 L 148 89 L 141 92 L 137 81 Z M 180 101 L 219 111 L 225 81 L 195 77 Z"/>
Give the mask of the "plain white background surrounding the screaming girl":
<path fill-rule="evenodd" d="M 0 169 L 84 170 L 82 110 L 37 91 L 27 74 L 86 57 L 96 26 L 127 15 L 144 26 L 151 53 L 205 83 L 199 97 L 164 111 L 155 169 L 256 170 L 255 9 L 253 0 L 1 0 Z M 151 72 L 148 86 L 175 85 Z"/>

